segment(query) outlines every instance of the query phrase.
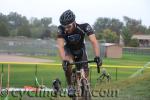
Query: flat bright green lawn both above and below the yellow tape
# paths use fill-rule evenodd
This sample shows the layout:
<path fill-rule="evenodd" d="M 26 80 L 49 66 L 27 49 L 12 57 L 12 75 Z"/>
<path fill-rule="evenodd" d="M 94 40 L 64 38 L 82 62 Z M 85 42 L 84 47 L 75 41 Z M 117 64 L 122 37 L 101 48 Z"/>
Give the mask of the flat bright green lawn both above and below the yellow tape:
<path fill-rule="evenodd" d="M 45 59 L 55 59 L 56 63 L 60 62 L 58 57 L 47 57 L 47 56 L 36 56 L 38 58 Z M 120 59 L 104 59 L 104 63 L 106 65 L 126 65 L 126 66 L 143 66 L 146 62 L 148 62 L 150 56 L 143 55 L 128 55 L 124 54 L 123 58 Z M 0 65 L 0 70 L 1 70 Z M 35 85 L 35 65 L 11 65 L 10 68 L 10 85 L 12 87 L 23 87 L 25 85 Z M 116 77 L 116 68 L 107 68 L 107 71 L 111 74 L 112 80 L 123 80 L 128 78 L 134 72 L 136 72 L 137 68 L 117 68 L 117 77 Z M 95 67 L 91 67 L 91 83 L 94 86 L 96 79 L 100 76 L 97 73 Z M 1 72 L 1 71 L 0 71 Z M 63 81 L 63 86 L 66 86 L 64 72 L 61 66 L 48 66 L 48 65 L 38 65 L 37 69 L 37 77 L 40 83 L 46 84 L 46 86 L 50 87 L 51 82 L 56 77 L 60 78 Z M 3 86 L 7 86 L 7 65 L 4 66 L 4 78 L 3 78 Z"/>

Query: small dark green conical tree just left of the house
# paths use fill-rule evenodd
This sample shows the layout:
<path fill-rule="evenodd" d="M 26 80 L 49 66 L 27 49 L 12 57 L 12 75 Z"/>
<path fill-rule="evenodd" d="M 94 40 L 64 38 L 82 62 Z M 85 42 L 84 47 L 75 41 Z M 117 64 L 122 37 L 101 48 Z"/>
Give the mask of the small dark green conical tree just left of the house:
<path fill-rule="evenodd" d="M 130 29 L 128 27 L 123 27 L 121 36 L 123 38 L 124 45 L 128 46 L 132 38 L 132 33 Z"/>

